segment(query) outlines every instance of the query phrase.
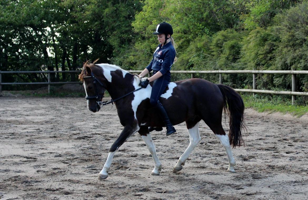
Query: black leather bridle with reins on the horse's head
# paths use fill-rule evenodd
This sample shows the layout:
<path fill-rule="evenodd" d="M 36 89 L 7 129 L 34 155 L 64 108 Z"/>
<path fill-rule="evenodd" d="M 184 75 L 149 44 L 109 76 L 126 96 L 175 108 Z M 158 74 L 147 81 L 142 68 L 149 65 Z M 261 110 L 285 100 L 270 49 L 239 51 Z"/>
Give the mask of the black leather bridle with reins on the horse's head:
<path fill-rule="evenodd" d="M 136 90 L 134 90 L 132 92 L 128 92 L 127 94 L 125 94 L 125 95 L 123 95 L 123 96 L 121 96 L 121 97 L 119 97 L 119 98 L 117 98 L 115 100 L 111 99 L 111 100 L 108 100 L 108 101 L 100 101 L 99 98 L 103 98 L 104 95 L 99 95 L 99 93 L 97 91 L 96 83 L 99 83 L 106 90 L 104 85 L 97 78 L 95 78 L 93 72 L 91 72 L 91 76 L 84 76 L 83 78 L 92 78 L 93 79 L 94 89 L 95 89 L 95 96 L 86 96 L 86 100 L 96 99 L 97 100 L 96 103 L 99 105 L 100 108 L 102 108 L 104 105 L 107 105 L 107 104 L 110 104 L 110 103 L 113 104 L 113 102 L 115 102 L 115 101 L 117 101 L 117 100 L 119 100 L 119 99 L 121 99 L 121 98 L 123 98 L 125 96 L 128 96 L 128 95 L 132 94 L 133 92 L 136 92 L 136 91 L 142 89 L 140 87 L 140 88 L 138 88 L 138 89 L 136 89 Z M 141 80 L 140 80 L 140 82 L 141 82 Z"/>

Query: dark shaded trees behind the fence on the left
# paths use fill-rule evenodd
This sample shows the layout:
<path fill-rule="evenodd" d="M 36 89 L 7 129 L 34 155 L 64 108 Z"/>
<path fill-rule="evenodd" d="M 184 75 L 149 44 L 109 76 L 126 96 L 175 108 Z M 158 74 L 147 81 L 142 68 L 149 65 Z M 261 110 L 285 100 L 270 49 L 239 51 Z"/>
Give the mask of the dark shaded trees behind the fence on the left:
<path fill-rule="evenodd" d="M 131 23 L 141 5 L 137 0 L 2 1 L 0 70 L 77 70 L 87 60 L 111 62 L 132 42 Z M 77 76 L 51 74 L 52 81 L 60 78 Z M 47 77 L 13 74 L 2 81 L 44 82 Z"/>

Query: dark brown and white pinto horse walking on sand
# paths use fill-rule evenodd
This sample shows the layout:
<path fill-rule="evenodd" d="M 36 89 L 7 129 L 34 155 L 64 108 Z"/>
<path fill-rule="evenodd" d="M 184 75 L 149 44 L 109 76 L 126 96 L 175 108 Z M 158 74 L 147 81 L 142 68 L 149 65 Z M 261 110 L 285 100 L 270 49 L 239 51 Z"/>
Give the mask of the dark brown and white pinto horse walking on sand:
<path fill-rule="evenodd" d="M 140 88 L 141 79 L 138 76 L 115 65 L 95 64 L 95 62 L 84 63 L 79 79 L 83 81 L 88 109 L 98 112 L 103 104 L 107 104 L 101 102 L 107 90 L 115 103 L 120 123 L 124 126 L 119 137 L 110 147 L 98 179 L 108 177 L 115 152 L 136 132 L 144 139 L 154 160 L 155 167 L 151 175 L 160 175 L 161 163 L 148 127 L 165 125 L 159 113 L 150 105 L 152 83 L 147 88 Z M 132 92 L 134 90 L 138 91 Z M 169 83 L 159 100 L 166 109 L 171 123 L 176 125 L 185 121 L 189 134 L 189 145 L 174 166 L 173 172 L 182 169 L 186 159 L 200 142 L 198 127 L 201 120 L 205 121 L 225 147 L 229 160 L 227 171 L 235 172 L 235 159 L 230 144 L 233 147 L 241 146 L 242 130 L 243 128 L 245 130 L 244 103 L 235 90 L 223 84 L 213 84 L 207 80 L 192 78 Z M 229 114 L 229 137 L 221 125 L 223 110 Z"/>

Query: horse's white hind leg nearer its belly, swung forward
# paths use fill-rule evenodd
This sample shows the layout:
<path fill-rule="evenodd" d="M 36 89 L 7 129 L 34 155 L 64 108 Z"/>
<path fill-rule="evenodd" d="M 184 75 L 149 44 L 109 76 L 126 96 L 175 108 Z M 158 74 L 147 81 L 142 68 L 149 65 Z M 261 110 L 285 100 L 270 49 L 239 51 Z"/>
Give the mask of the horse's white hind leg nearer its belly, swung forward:
<path fill-rule="evenodd" d="M 183 168 L 182 166 L 184 166 L 186 159 L 201 141 L 201 137 L 199 134 L 199 123 L 200 121 L 198 121 L 197 123 L 196 122 L 194 123 L 186 122 L 187 131 L 189 134 L 189 145 L 187 149 L 184 151 L 184 153 L 181 155 L 181 157 L 179 158 L 176 165 L 174 166 L 173 168 L 174 173 L 182 170 Z"/>

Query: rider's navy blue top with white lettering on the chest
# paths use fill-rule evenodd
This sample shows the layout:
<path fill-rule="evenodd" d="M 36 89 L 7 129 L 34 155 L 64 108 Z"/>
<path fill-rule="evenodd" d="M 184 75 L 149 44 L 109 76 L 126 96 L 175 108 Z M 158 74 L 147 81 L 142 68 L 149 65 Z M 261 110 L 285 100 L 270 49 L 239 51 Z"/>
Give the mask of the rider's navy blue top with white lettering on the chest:
<path fill-rule="evenodd" d="M 164 46 L 158 45 L 153 53 L 153 59 L 146 67 L 149 72 L 152 70 L 160 71 L 160 73 L 168 74 L 170 76 L 171 66 L 175 58 L 175 49 L 171 42 L 168 42 Z"/>

